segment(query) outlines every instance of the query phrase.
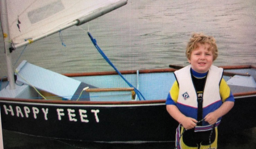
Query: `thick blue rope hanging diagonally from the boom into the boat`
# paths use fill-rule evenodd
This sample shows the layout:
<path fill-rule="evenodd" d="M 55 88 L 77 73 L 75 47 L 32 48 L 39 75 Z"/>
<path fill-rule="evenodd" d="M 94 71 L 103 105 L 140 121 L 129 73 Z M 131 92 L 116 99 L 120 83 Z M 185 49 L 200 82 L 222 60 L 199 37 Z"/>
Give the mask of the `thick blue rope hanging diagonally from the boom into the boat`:
<path fill-rule="evenodd" d="M 117 72 L 117 74 L 119 74 L 119 76 L 120 76 L 130 87 L 134 88 L 134 91 L 135 91 L 135 93 L 137 94 L 137 96 L 139 97 L 140 100 L 141 100 L 141 97 L 143 98 L 143 100 L 145 100 L 145 98 L 143 97 L 143 95 L 141 94 L 141 92 L 140 92 L 138 89 L 136 89 L 129 81 L 127 81 L 127 80 L 124 78 L 124 76 L 121 74 L 121 72 L 118 71 L 117 68 L 114 66 L 114 64 L 108 59 L 108 57 L 105 55 L 105 53 L 104 53 L 104 52 L 100 49 L 100 47 L 98 46 L 96 39 L 94 39 L 94 38 L 91 36 L 91 34 L 90 34 L 89 32 L 88 32 L 88 35 L 89 35 L 89 37 L 90 37 L 90 39 L 91 39 L 91 42 L 94 44 L 94 46 L 95 46 L 96 49 L 99 51 L 99 53 L 101 54 L 101 56 L 108 62 L 108 64 L 109 64 L 110 66 L 112 66 L 112 67 L 115 69 L 115 71 Z M 141 96 L 141 97 L 140 97 L 140 96 Z"/>

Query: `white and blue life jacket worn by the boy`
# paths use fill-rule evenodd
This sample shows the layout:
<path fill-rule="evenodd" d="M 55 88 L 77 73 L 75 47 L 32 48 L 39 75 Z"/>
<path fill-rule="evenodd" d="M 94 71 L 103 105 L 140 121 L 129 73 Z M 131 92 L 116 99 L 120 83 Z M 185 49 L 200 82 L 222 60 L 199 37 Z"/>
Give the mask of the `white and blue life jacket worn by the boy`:
<path fill-rule="evenodd" d="M 198 97 L 193 85 L 190 69 L 191 65 L 174 72 L 179 85 L 177 107 L 185 116 L 197 119 L 197 98 L 200 97 L 203 99 L 202 117 L 204 118 L 208 113 L 215 111 L 222 105 L 222 100 L 220 97 L 220 81 L 222 79 L 223 69 L 216 66 L 210 67 L 207 74 L 204 91 L 202 94 L 198 94 Z M 220 123 L 220 119 L 216 123 L 216 126 L 218 126 Z M 200 130 L 208 129 L 208 127 L 211 129 L 208 122 L 203 121 L 202 126 L 206 128 L 200 128 Z M 196 129 L 197 128 L 195 128 L 195 130 Z"/>

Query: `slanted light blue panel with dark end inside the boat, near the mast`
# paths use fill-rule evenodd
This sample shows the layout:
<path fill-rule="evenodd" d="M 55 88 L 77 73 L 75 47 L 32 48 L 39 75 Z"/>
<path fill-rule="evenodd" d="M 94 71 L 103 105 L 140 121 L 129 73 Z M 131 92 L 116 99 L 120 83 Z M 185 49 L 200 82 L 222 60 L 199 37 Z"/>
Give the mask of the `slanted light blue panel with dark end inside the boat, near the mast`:
<path fill-rule="evenodd" d="M 89 101 L 88 92 L 81 92 L 83 88 L 97 88 L 87 83 L 63 76 L 62 74 L 38 67 L 34 64 L 22 61 L 16 69 L 17 80 L 36 89 L 43 90 L 67 100 Z"/>

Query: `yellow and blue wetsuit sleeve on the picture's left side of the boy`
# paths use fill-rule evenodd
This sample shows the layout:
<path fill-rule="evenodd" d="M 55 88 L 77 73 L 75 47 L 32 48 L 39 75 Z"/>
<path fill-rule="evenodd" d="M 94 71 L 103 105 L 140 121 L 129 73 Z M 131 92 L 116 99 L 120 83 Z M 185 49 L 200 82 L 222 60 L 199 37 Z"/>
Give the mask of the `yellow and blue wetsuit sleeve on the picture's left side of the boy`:
<path fill-rule="evenodd" d="M 178 82 L 175 81 L 173 83 L 173 86 L 171 87 L 170 92 L 168 93 L 167 99 L 166 99 L 166 105 L 176 105 L 179 95 L 179 85 Z"/>

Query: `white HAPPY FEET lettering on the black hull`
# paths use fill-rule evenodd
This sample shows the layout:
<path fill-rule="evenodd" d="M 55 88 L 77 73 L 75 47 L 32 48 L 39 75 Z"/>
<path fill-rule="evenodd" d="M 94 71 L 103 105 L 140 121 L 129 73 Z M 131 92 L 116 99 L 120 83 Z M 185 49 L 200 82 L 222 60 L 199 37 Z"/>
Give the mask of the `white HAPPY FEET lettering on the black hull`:
<path fill-rule="evenodd" d="M 48 117 L 47 117 L 49 114 L 48 108 L 39 109 L 37 107 L 29 108 L 27 106 L 24 106 L 23 108 L 16 106 L 13 108 L 12 106 L 7 107 L 6 105 L 3 105 L 3 109 L 6 113 L 6 115 L 15 116 L 15 114 L 16 114 L 17 117 L 22 117 L 22 118 L 23 117 L 29 118 L 29 116 L 31 117 L 31 115 L 33 115 L 34 119 L 37 119 L 38 115 L 40 113 L 43 113 L 44 119 L 48 120 Z M 77 111 L 75 109 L 67 109 L 67 111 L 65 111 L 64 109 L 56 109 L 56 112 L 57 113 L 55 113 L 55 114 L 57 114 L 58 120 L 62 120 L 62 118 L 65 116 L 68 117 L 69 121 L 77 122 L 79 120 L 79 119 L 77 119 L 78 116 L 76 115 Z M 67 115 L 65 115 L 65 113 Z M 87 110 L 79 109 L 78 113 L 79 113 L 80 122 L 88 123 L 89 122 L 88 114 L 89 114 L 89 116 L 90 115 L 94 116 L 95 121 L 97 123 L 99 122 L 99 117 L 98 117 L 99 110 L 98 109 L 96 109 L 96 110 L 92 109 L 89 113 L 87 113 Z"/>

